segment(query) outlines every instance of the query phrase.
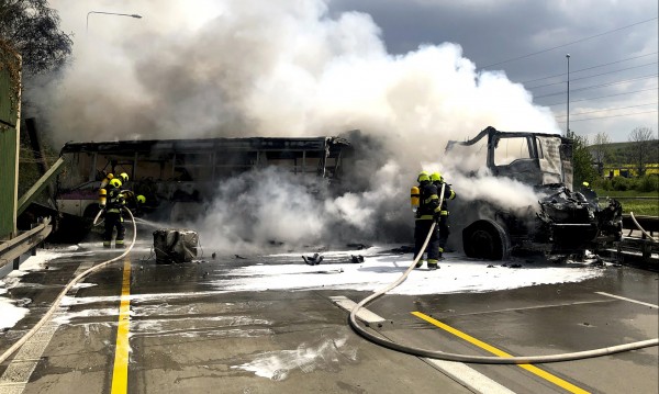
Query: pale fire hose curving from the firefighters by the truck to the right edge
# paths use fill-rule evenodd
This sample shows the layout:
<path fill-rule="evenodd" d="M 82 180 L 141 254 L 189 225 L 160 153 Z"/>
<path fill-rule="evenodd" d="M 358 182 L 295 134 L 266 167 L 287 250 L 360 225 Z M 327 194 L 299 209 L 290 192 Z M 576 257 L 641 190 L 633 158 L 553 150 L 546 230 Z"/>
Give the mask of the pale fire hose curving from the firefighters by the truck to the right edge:
<path fill-rule="evenodd" d="M 423 247 L 421 248 L 421 251 L 418 252 L 418 255 L 416 255 L 416 257 L 414 258 L 414 261 L 412 261 L 412 264 L 410 264 L 410 267 L 401 275 L 401 278 L 399 278 L 396 281 L 389 284 L 388 286 L 380 289 L 380 290 L 373 292 L 371 295 L 367 296 L 366 299 L 361 300 L 361 302 L 359 302 L 353 308 L 353 311 L 350 311 L 350 316 L 348 319 L 349 319 L 350 326 L 353 327 L 353 329 L 355 331 L 357 331 L 357 334 L 361 335 L 366 339 L 368 339 L 372 342 L 376 342 L 380 346 L 383 346 L 386 348 L 396 350 L 396 351 L 400 351 L 403 353 L 412 354 L 412 356 L 426 357 L 426 358 L 431 358 L 431 359 L 447 360 L 447 361 L 481 363 L 481 364 L 533 364 L 533 363 L 580 360 L 580 359 L 619 353 L 623 351 L 641 349 L 641 348 L 647 348 L 650 346 L 659 345 L 659 338 L 655 338 L 655 339 L 649 339 L 649 340 L 641 340 L 638 342 L 617 345 L 617 346 L 612 346 L 612 347 L 607 347 L 607 348 L 578 351 L 578 352 L 572 352 L 572 353 L 549 354 L 549 356 L 521 356 L 521 357 L 501 358 L 501 357 L 492 357 L 492 356 L 488 357 L 488 356 L 467 356 L 467 354 L 447 353 L 447 352 L 439 351 L 439 350 L 413 348 L 410 346 L 392 342 L 387 338 L 383 338 L 383 337 L 380 337 L 372 333 L 367 331 L 359 324 L 357 324 L 357 312 L 359 312 L 359 309 L 361 307 L 364 307 L 366 304 L 368 304 L 369 302 L 371 302 L 371 301 L 376 300 L 377 297 L 381 296 L 382 294 L 389 292 L 390 290 L 394 289 L 399 284 L 403 283 L 405 281 L 405 279 L 407 279 L 407 275 L 410 274 L 412 269 L 414 269 L 414 267 L 416 266 L 416 263 L 423 256 L 423 251 L 425 250 L 426 246 L 428 245 L 431 235 L 433 234 L 434 230 L 435 230 L 435 223 L 433 223 L 433 225 L 431 226 L 431 230 L 428 232 L 428 235 L 425 239 L 425 243 L 423 244 Z"/>

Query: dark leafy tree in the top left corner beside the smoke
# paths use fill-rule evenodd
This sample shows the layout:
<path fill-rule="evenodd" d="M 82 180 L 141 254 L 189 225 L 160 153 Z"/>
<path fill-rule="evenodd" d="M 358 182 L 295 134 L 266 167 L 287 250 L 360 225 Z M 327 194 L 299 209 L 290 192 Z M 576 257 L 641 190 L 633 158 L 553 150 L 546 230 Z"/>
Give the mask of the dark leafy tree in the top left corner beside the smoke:
<path fill-rule="evenodd" d="M 47 0 L 0 0 L 0 40 L 21 54 L 26 76 L 55 70 L 71 54 L 71 37 Z"/>

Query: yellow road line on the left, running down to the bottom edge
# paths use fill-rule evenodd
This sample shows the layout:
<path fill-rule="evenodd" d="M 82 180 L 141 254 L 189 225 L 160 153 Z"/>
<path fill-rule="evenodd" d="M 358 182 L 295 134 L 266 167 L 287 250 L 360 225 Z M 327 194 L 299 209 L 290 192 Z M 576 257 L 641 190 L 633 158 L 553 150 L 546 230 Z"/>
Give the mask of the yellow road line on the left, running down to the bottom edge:
<path fill-rule="evenodd" d="M 131 323 L 131 259 L 124 259 L 114 369 L 112 370 L 112 394 L 125 394 L 129 390 L 129 328 Z"/>

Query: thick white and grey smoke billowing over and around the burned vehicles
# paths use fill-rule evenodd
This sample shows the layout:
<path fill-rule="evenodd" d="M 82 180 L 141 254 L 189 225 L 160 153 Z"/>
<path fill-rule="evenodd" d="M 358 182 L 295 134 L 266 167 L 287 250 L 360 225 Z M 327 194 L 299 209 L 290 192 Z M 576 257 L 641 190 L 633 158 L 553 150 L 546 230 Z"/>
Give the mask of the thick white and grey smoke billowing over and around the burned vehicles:
<path fill-rule="evenodd" d="M 272 170 L 219 184 L 200 223 L 210 243 L 309 245 L 412 236 L 409 190 L 442 171 L 459 199 L 534 204 L 529 188 L 487 173 L 463 178 L 447 140 L 492 125 L 558 133 L 550 111 L 503 72 L 477 71 L 459 43 L 391 55 L 365 13 L 331 15 L 328 0 L 97 1 L 138 5 L 143 20 L 88 15 L 75 59 L 27 92 L 52 138 L 111 140 L 353 134 L 359 157 L 336 196 Z M 59 0 L 85 15 L 85 2 Z M 320 190 L 320 192 L 319 192 Z M 454 212 L 454 214 L 459 214 Z"/>

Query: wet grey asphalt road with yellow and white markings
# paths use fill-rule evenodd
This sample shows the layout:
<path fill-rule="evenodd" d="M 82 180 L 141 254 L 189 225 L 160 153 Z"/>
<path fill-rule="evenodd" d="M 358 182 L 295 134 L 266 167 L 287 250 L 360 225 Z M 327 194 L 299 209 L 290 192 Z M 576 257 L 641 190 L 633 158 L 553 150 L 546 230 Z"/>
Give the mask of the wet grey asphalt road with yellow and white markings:
<path fill-rule="evenodd" d="M 22 277 L 32 285 L 8 296 L 26 300 L 30 313 L 0 333 L 0 352 L 74 277 L 116 254 L 86 246 Z M 74 288 L 56 315 L 0 364 L 0 393 L 659 392 L 657 347 L 534 365 L 425 359 L 371 344 L 349 327 L 342 305 L 371 293 L 358 285 L 225 288 L 264 279 L 238 278 L 236 268 L 299 259 L 232 255 L 156 264 L 147 257 L 142 245 Z M 315 267 L 327 281 L 344 278 L 331 264 Z M 447 294 L 443 283 L 457 278 L 440 271 L 433 277 L 437 293 L 388 294 L 369 304 L 367 329 L 407 346 L 474 356 L 573 352 L 652 339 L 659 330 L 656 272 L 607 264 L 578 282 Z"/>

